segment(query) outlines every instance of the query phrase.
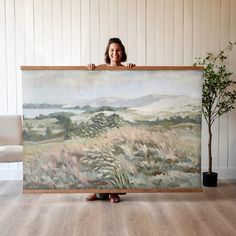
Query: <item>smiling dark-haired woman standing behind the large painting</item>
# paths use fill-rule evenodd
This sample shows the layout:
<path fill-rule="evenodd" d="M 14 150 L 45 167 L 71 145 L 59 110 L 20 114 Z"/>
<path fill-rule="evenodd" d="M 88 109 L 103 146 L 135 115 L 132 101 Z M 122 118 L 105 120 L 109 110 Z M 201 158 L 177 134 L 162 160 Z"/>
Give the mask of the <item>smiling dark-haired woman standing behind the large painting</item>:
<path fill-rule="evenodd" d="M 125 52 L 125 47 L 122 44 L 119 38 L 111 38 L 107 44 L 105 51 L 105 62 L 106 66 L 124 66 L 121 62 L 125 62 L 127 60 L 127 55 Z M 132 63 L 127 64 L 127 67 L 135 66 Z M 88 65 L 89 70 L 95 69 L 94 64 Z M 109 199 L 112 203 L 120 202 L 120 197 L 117 193 L 93 193 L 89 195 L 87 201 L 95 201 L 95 200 L 105 200 Z"/>

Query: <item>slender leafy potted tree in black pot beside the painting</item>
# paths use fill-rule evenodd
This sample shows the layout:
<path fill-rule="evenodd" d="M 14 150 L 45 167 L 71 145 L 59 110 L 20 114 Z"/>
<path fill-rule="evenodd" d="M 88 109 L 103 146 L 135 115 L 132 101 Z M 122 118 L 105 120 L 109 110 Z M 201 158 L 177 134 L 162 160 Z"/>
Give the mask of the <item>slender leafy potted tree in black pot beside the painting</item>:
<path fill-rule="evenodd" d="M 234 109 L 236 100 L 236 84 L 230 76 L 225 61 L 226 53 L 232 50 L 236 42 L 229 42 L 227 47 L 214 56 L 211 53 L 205 58 L 197 58 L 195 65 L 203 70 L 202 112 L 208 126 L 208 172 L 203 172 L 203 185 L 217 186 L 218 174 L 212 171 L 212 125 L 221 115 Z"/>

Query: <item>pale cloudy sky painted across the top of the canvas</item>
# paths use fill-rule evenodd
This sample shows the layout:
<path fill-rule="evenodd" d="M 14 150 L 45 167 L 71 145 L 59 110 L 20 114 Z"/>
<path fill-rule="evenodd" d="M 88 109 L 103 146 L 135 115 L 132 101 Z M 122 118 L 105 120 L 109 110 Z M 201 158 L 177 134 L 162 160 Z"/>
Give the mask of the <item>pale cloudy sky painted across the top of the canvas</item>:
<path fill-rule="evenodd" d="M 201 71 L 23 71 L 23 101 L 67 104 L 99 97 L 185 95 L 201 99 Z"/>

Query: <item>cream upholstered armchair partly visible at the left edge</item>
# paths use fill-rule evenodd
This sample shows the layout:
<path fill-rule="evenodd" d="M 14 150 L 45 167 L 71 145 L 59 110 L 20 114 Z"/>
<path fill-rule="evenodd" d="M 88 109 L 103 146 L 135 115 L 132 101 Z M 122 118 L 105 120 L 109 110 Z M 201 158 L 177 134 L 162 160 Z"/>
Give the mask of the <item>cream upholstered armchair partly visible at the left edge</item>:
<path fill-rule="evenodd" d="M 23 161 L 20 115 L 0 115 L 0 162 Z"/>

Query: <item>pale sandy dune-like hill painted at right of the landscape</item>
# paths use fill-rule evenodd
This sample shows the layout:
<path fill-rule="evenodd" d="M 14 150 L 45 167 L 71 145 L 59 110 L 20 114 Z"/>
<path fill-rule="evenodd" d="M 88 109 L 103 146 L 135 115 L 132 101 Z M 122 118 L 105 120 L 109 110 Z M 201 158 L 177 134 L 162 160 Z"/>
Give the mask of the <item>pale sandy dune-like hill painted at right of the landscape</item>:
<path fill-rule="evenodd" d="M 106 100 L 108 101 L 108 100 Z M 113 100 L 115 101 L 115 100 Z M 117 100 L 116 100 L 117 102 Z M 124 102 L 124 100 L 123 100 Z M 199 99 L 190 98 L 187 96 L 146 96 L 136 99 L 131 102 L 126 102 L 126 105 L 131 105 L 136 102 L 136 106 L 127 109 L 116 111 L 104 110 L 105 115 L 110 116 L 114 113 L 118 114 L 122 119 L 130 122 L 135 121 L 155 121 L 158 119 L 169 119 L 173 116 L 179 117 L 194 117 L 199 114 L 201 107 Z M 114 103 L 113 103 L 114 104 Z M 121 106 L 122 103 L 119 103 Z M 124 103 L 123 103 L 124 104 Z M 141 105 L 145 104 L 145 105 Z M 98 103 L 97 103 L 98 105 Z M 118 105 L 118 103 L 116 103 Z M 99 112 L 84 112 L 74 119 L 77 123 L 88 121 L 91 117 Z"/>

